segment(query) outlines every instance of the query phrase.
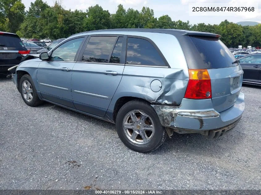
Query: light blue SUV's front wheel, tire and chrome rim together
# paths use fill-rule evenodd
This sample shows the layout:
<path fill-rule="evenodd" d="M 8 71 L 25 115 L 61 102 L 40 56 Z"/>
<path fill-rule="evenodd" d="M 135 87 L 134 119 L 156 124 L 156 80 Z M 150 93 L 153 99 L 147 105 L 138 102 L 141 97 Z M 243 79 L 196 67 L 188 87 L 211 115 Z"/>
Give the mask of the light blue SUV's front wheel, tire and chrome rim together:
<path fill-rule="evenodd" d="M 28 106 L 38 106 L 43 103 L 37 95 L 33 80 L 30 75 L 23 75 L 20 83 L 19 90 L 21 92 L 23 101 Z"/>

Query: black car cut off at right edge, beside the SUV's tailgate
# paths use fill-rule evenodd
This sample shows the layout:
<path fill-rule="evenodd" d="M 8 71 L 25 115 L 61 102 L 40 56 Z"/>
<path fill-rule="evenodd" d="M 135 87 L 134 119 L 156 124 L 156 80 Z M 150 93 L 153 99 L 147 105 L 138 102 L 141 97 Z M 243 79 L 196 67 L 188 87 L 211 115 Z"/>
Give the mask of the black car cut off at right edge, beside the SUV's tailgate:
<path fill-rule="evenodd" d="M 243 83 L 261 85 L 261 53 L 249 54 L 238 60 L 244 71 Z"/>

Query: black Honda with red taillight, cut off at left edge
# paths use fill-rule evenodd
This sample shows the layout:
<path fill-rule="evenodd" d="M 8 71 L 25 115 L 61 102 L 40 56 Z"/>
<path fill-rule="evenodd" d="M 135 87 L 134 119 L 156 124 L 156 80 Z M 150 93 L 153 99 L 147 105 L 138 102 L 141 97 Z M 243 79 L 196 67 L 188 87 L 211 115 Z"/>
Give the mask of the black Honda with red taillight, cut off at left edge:
<path fill-rule="evenodd" d="M 29 54 L 18 35 L 0 31 L 0 73 L 18 65 L 21 59 Z"/>

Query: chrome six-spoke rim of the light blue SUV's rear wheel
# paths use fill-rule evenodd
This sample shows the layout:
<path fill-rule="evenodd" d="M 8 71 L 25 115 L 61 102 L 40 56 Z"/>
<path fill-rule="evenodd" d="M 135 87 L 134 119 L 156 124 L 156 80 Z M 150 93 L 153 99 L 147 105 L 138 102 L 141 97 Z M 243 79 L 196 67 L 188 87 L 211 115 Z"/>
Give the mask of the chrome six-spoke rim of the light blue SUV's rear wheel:
<path fill-rule="evenodd" d="M 135 144 L 147 144 L 155 132 L 152 119 L 139 110 L 129 112 L 122 126 L 125 135 Z"/>

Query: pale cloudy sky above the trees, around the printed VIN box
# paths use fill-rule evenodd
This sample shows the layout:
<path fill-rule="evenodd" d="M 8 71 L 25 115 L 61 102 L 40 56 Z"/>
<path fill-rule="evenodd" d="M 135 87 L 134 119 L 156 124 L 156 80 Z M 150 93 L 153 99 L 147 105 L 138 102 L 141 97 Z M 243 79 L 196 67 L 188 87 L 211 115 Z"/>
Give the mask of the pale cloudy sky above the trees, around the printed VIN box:
<path fill-rule="evenodd" d="M 53 6 L 54 0 L 44 0 L 50 6 Z M 141 10 L 143 6 L 147 6 L 154 10 L 154 16 L 160 17 L 164 14 L 168 14 L 172 20 L 189 20 L 192 24 L 204 22 L 206 24 L 219 24 L 221 21 L 228 19 L 230 22 L 240 21 L 255 21 L 261 23 L 261 2 L 259 3 L 259 14 L 247 14 L 239 16 L 189 16 L 188 3 L 229 3 L 242 2 L 245 5 L 246 2 L 260 2 L 260 0 L 62 0 L 62 5 L 65 9 L 69 10 L 83 10 L 89 6 L 99 4 L 104 10 L 109 10 L 111 14 L 116 12 L 117 5 L 123 4 L 127 10 L 129 7 L 137 10 Z M 22 0 L 28 10 L 30 3 L 34 0 Z"/>

